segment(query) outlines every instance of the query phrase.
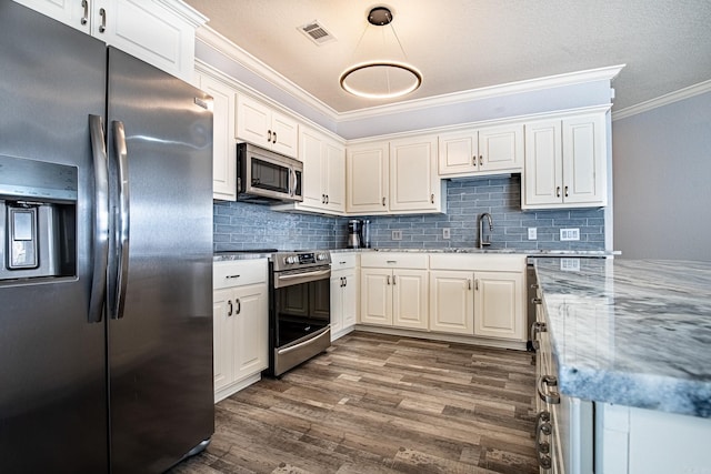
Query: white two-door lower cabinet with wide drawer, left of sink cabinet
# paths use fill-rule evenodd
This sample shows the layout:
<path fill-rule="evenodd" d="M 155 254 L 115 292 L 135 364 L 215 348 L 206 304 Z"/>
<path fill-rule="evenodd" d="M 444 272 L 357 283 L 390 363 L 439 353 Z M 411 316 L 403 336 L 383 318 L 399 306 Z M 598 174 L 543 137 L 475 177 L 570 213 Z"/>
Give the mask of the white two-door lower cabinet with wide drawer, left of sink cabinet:
<path fill-rule="evenodd" d="M 362 324 L 427 330 L 429 325 L 428 255 L 364 253 L 361 255 Z"/>

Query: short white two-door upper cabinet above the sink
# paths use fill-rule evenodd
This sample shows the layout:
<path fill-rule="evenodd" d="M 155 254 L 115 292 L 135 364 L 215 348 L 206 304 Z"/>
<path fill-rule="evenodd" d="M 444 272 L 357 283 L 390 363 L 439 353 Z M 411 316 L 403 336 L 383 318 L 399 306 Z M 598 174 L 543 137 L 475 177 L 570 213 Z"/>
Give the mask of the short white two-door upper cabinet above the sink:
<path fill-rule="evenodd" d="M 442 177 L 520 172 L 522 168 L 522 124 L 460 130 L 439 135 L 439 174 Z"/>

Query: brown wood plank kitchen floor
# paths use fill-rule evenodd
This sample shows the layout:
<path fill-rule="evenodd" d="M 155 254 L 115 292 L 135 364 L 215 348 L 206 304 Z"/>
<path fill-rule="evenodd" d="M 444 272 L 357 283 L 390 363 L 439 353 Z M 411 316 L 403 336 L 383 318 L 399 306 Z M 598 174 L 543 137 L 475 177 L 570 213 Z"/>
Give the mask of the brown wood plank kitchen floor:
<path fill-rule="evenodd" d="M 537 473 L 531 354 L 353 332 L 216 405 L 172 474 Z"/>

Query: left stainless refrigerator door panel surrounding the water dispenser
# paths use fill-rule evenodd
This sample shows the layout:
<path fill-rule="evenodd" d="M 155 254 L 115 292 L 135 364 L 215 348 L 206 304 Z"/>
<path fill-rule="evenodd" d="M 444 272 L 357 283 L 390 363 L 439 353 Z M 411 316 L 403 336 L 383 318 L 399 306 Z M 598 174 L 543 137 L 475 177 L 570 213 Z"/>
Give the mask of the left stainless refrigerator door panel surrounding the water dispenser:
<path fill-rule="evenodd" d="M 0 281 L 0 472 L 108 468 L 104 325 L 89 322 L 93 168 L 106 47 L 0 2 L 0 154 L 76 168 L 76 271 Z M 2 170 L 0 170 L 2 173 Z"/>

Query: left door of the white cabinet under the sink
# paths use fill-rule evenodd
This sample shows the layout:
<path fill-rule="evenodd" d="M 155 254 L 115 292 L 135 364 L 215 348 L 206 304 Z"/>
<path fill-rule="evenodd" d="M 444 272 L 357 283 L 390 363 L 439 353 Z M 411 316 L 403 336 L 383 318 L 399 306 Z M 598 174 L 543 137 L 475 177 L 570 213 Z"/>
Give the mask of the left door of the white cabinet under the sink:
<path fill-rule="evenodd" d="M 474 333 L 471 272 L 430 271 L 430 331 Z"/>

